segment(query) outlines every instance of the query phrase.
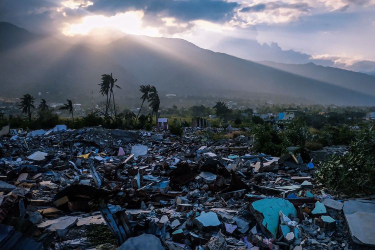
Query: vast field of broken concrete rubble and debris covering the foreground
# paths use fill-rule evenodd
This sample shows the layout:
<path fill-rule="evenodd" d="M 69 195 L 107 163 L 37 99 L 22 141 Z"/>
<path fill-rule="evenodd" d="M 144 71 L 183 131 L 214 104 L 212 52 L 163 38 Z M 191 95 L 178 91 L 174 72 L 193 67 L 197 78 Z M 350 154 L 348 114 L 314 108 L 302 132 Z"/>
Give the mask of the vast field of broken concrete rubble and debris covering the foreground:
<path fill-rule="evenodd" d="M 375 201 L 336 200 L 315 185 L 312 162 L 252 154 L 250 138 L 209 140 L 208 130 L 90 127 L 1 137 L 0 248 L 375 245 L 366 221 Z"/>

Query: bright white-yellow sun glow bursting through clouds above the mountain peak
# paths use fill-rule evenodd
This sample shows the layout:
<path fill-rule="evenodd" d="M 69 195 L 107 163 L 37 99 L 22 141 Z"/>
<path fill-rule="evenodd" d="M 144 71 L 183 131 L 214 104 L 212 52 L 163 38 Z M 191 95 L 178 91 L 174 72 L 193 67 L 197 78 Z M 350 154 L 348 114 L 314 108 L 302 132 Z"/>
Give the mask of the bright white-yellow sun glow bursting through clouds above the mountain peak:
<path fill-rule="evenodd" d="M 97 30 L 116 30 L 127 34 L 160 36 L 158 29 L 142 26 L 143 11 L 128 11 L 112 16 L 87 15 L 78 23 L 65 23 L 62 33 L 65 35 L 87 35 Z"/>

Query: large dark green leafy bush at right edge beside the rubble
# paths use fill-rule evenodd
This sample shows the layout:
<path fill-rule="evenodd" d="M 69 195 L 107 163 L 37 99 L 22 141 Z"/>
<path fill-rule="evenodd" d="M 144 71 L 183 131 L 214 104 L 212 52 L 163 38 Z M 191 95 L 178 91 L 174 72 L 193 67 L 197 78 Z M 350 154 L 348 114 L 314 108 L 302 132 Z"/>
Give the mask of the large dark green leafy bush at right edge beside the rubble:
<path fill-rule="evenodd" d="M 348 194 L 375 192 L 375 130 L 360 131 L 349 145 L 349 152 L 333 156 L 315 172 L 326 187 Z"/>

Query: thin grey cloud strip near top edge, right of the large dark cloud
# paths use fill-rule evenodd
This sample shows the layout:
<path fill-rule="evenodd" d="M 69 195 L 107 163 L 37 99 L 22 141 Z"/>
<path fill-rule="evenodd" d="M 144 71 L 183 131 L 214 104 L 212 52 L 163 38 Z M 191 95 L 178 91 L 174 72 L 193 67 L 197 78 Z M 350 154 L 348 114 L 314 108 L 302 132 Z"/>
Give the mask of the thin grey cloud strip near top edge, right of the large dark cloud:
<path fill-rule="evenodd" d="M 307 3 L 286 3 L 282 1 L 272 1 L 267 3 L 257 3 L 251 6 L 241 8 L 240 12 L 261 12 L 264 10 L 273 10 L 278 8 L 298 9 L 300 11 L 308 11 L 311 7 Z"/>

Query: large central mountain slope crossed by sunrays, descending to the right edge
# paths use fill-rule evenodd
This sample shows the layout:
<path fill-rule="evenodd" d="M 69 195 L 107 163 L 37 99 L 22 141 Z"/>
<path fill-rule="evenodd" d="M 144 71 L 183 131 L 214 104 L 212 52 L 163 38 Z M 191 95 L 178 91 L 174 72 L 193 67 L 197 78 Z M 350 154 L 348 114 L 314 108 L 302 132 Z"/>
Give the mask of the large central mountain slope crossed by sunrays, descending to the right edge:
<path fill-rule="evenodd" d="M 347 87 L 212 52 L 182 39 L 127 35 L 104 51 L 142 82 L 156 82 L 168 91 L 221 96 L 251 92 L 268 93 L 270 99 L 286 95 L 315 103 L 373 103 L 372 96 Z"/>

